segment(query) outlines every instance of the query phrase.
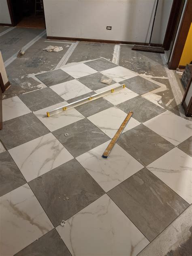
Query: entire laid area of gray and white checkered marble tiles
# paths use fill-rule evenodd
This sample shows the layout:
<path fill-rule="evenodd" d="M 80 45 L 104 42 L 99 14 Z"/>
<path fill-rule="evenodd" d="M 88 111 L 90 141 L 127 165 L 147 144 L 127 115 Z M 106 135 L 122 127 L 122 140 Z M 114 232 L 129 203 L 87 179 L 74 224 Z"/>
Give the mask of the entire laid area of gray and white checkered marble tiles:
<path fill-rule="evenodd" d="M 192 203 L 191 122 L 143 97 L 155 81 L 103 58 L 36 77 L 43 89 L 3 100 L 1 255 L 136 256 Z M 126 88 L 46 117 L 119 83 Z"/>

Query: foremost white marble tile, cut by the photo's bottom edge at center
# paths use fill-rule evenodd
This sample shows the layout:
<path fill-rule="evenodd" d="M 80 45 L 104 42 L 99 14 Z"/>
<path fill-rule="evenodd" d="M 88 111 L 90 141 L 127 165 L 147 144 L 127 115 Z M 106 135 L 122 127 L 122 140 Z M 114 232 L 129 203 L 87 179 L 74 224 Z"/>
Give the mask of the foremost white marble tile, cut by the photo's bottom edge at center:
<path fill-rule="evenodd" d="M 149 243 L 107 194 L 56 229 L 72 256 L 137 256 Z"/>

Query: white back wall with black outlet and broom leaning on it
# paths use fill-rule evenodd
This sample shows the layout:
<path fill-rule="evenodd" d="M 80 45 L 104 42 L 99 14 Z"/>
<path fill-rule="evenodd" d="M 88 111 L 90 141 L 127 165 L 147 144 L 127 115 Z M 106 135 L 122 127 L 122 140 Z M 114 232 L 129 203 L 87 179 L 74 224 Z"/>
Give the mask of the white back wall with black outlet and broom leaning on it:
<path fill-rule="evenodd" d="M 155 0 L 44 0 L 47 36 L 148 42 Z M 160 0 L 152 43 L 163 43 L 173 0 Z M 106 30 L 112 26 L 112 30 Z"/>

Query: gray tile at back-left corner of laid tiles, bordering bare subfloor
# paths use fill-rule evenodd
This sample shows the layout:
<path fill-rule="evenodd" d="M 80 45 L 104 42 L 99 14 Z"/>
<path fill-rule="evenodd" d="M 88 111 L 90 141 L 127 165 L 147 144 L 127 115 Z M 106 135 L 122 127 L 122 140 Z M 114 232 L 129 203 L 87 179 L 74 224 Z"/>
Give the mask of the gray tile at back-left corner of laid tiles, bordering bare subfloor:
<path fill-rule="evenodd" d="M 58 83 L 64 83 L 74 79 L 73 77 L 71 77 L 69 74 L 67 74 L 61 69 L 56 69 L 53 71 L 38 74 L 36 75 L 36 77 L 41 82 L 45 83 L 45 85 L 47 86 L 55 85 Z"/>

